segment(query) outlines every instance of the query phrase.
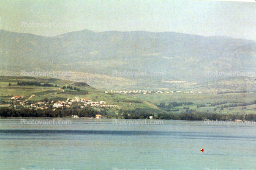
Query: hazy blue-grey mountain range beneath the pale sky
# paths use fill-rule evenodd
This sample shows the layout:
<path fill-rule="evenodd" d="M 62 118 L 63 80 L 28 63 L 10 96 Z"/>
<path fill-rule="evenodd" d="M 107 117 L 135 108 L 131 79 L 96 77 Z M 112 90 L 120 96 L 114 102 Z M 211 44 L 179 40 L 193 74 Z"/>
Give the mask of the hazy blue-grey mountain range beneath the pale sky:
<path fill-rule="evenodd" d="M 179 88 L 177 81 L 255 76 L 256 41 L 176 32 L 81 30 L 42 37 L 0 30 L 0 60 L 4 76 L 72 71 L 64 78 L 97 88 Z"/>

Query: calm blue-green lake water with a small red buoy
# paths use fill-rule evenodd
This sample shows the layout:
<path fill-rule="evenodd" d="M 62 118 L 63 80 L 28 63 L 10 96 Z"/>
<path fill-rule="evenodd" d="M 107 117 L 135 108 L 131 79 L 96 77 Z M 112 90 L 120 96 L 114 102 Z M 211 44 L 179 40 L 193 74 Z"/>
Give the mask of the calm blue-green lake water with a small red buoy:
<path fill-rule="evenodd" d="M 0 119 L 0 169 L 256 169 L 254 124 L 58 120 L 72 124 L 28 125 L 21 119 Z"/>

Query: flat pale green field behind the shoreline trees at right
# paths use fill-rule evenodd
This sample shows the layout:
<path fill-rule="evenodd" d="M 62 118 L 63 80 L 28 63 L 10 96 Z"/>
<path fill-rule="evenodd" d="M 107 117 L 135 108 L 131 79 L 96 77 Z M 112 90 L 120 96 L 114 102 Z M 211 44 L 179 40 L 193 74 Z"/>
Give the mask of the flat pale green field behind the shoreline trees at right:
<path fill-rule="evenodd" d="M 172 110 L 179 110 L 175 113 L 185 112 L 187 109 L 184 107 L 189 107 L 190 110 L 196 110 L 205 113 L 220 113 L 220 114 L 249 114 L 256 113 L 255 104 L 255 93 L 226 93 L 226 94 L 211 94 L 211 93 L 163 93 L 163 94 L 135 94 L 134 96 L 140 98 L 143 101 L 151 102 L 151 104 L 156 105 L 159 108 L 164 108 L 169 105 L 169 102 L 193 102 L 193 104 L 173 107 Z M 250 102 L 254 104 L 249 104 L 246 106 L 234 106 L 232 104 L 243 105 Z M 217 105 L 211 105 L 216 104 Z M 224 104 L 221 104 L 224 103 Z M 160 107 L 163 106 L 163 107 Z M 205 105 L 205 107 L 197 107 L 198 105 Z M 222 109 L 223 108 L 223 109 Z"/>

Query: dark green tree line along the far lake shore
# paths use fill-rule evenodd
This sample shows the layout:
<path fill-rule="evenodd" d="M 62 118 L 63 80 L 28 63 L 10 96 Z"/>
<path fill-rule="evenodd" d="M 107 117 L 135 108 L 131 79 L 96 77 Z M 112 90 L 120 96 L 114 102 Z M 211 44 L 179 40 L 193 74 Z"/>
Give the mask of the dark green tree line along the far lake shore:
<path fill-rule="evenodd" d="M 135 109 L 135 110 L 119 110 L 119 113 L 108 112 L 106 109 L 95 110 L 94 108 L 70 109 L 70 110 L 36 110 L 23 108 L 15 110 L 13 108 L 0 108 L 1 118 L 10 117 L 38 117 L 38 118 L 69 118 L 77 116 L 78 118 L 96 118 L 96 115 L 102 115 L 104 118 L 120 118 L 120 119 L 173 119 L 186 121 L 204 121 L 218 120 L 218 121 L 235 121 L 237 119 L 243 121 L 256 121 L 255 114 L 219 114 L 219 113 L 202 113 L 197 111 L 181 112 L 181 113 L 167 113 L 156 110 Z"/>

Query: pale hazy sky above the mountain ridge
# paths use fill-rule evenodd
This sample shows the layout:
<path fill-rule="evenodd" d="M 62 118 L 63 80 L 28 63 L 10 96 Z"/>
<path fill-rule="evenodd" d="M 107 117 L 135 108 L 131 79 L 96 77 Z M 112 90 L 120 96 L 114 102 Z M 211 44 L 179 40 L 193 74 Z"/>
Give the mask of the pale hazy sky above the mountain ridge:
<path fill-rule="evenodd" d="M 256 40 L 256 2 L 1 0 L 0 29 L 44 36 L 75 30 L 183 32 Z"/>

